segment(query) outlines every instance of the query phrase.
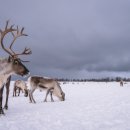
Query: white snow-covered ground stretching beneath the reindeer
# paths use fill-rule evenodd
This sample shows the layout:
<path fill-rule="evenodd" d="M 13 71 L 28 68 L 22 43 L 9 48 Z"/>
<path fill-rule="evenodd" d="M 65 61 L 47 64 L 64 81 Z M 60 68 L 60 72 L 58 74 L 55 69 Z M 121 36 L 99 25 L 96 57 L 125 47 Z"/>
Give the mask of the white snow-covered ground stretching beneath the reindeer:
<path fill-rule="evenodd" d="M 61 85 L 66 101 L 44 103 L 44 92 L 34 93 L 36 104 L 21 94 L 9 99 L 0 117 L 0 130 L 130 130 L 130 83 L 69 83 Z"/>

